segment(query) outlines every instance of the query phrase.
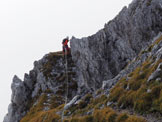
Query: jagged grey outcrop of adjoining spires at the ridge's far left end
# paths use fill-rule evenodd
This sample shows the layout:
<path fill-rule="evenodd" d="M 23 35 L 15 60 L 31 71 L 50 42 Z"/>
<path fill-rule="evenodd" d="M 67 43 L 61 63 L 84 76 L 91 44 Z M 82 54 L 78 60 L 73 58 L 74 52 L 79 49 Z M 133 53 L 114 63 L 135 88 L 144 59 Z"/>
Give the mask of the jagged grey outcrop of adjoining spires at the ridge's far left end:
<path fill-rule="evenodd" d="M 11 104 L 8 107 L 8 114 L 4 122 L 19 122 L 29 109 L 31 93 L 35 84 L 36 72 L 31 71 L 29 75 L 25 74 L 24 81 L 14 76 L 11 85 L 12 96 Z"/>

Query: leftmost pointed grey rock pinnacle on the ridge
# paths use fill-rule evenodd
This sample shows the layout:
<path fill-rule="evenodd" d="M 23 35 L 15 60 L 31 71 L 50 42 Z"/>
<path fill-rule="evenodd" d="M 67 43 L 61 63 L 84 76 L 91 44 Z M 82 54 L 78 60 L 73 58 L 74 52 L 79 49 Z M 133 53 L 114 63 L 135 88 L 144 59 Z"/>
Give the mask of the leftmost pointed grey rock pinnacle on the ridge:
<path fill-rule="evenodd" d="M 8 107 L 8 114 L 5 116 L 4 122 L 18 122 L 26 114 L 26 101 L 30 94 L 28 87 L 17 76 L 14 76 L 11 89 L 11 104 Z"/>

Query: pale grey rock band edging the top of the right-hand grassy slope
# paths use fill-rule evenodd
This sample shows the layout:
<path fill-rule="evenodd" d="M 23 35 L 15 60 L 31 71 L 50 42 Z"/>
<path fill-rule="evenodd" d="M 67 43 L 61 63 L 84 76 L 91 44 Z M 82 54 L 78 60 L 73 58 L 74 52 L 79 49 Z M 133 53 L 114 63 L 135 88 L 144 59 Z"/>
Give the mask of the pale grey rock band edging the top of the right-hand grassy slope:
<path fill-rule="evenodd" d="M 159 33 L 158 36 L 156 36 L 152 41 L 152 44 L 150 44 L 149 47 L 143 49 L 140 54 L 134 58 L 120 73 L 115 76 L 113 79 L 105 80 L 102 84 L 102 89 L 106 90 L 106 94 L 109 93 L 110 89 L 123 77 L 126 77 L 127 80 L 129 79 L 128 74 L 133 72 L 133 70 L 137 67 L 140 67 L 143 62 L 148 60 L 149 57 L 153 57 L 155 59 L 155 62 L 162 59 L 162 33 Z M 161 46 L 160 46 L 161 45 Z M 151 49 L 152 48 L 152 49 Z M 150 82 L 152 80 L 161 80 L 161 71 L 162 69 L 162 63 L 159 64 L 157 69 L 149 76 L 147 82 Z M 127 87 L 129 89 L 129 86 Z"/>

